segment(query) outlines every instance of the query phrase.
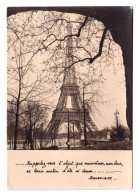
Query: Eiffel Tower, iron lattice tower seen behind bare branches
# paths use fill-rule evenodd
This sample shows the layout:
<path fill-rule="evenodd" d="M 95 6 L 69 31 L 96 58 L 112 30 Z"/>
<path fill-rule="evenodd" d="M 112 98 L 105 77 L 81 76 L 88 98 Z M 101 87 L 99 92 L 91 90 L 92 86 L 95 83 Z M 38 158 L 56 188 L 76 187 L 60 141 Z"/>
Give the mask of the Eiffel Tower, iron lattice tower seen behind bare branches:
<path fill-rule="evenodd" d="M 67 35 L 72 34 L 72 25 L 67 25 Z M 89 109 L 85 108 L 84 100 L 82 100 L 79 86 L 77 84 L 77 78 L 73 63 L 73 44 L 72 37 L 67 37 L 66 41 L 66 62 L 63 83 L 61 86 L 60 97 L 53 111 L 51 121 L 47 126 L 47 133 L 51 139 L 56 139 L 60 125 L 62 123 L 74 123 L 76 126 L 80 140 L 85 140 L 85 131 L 93 136 L 93 131 L 98 131 L 95 123 L 92 121 L 89 115 Z M 67 68 L 66 68 L 67 67 Z M 84 97 L 83 97 L 84 99 Z M 68 108 L 68 100 L 70 100 L 70 108 Z M 87 128 L 87 129 L 86 129 Z"/>

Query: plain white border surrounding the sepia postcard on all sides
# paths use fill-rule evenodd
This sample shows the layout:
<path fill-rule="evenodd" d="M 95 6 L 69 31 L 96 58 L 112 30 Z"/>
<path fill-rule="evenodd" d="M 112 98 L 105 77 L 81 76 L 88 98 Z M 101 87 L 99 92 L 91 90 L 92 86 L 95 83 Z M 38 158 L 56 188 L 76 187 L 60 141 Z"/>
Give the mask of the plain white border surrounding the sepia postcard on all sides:
<path fill-rule="evenodd" d="M 70 2 L 70 3 L 69 3 Z M 138 140 L 139 140 L 139 9 L 138 1 L 134 0 L 1 0 L 0 1 L 0 195 L 30 195 L 51 194 L 51 195 L 84 195 L 84 194 L 106 194 L 106 195 L 138 195 Z M 88 190 L 88 191 L 7 191 L 7 152 L 6 152 L 6 9 L 15 6 L 133 6 L 134 8 L 134 184 L 133 190 Z M 138 192 L 138 193 L 137 193 Z"/>

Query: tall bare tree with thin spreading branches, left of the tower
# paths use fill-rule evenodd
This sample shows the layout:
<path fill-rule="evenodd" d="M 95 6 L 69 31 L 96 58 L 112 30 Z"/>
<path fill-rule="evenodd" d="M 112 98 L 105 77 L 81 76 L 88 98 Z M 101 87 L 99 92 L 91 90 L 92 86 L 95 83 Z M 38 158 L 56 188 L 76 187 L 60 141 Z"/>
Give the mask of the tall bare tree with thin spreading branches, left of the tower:
<path fill-rule="evenodd" d="M 24 21 L 22 24 L 22 31 L 24 31 L 26 23 Z M 23 110 L 21 111 L 22 104 L 34 98 L 36 101 L 37 99 L 42 101 L 41 94 L 46 93 L 41 73 L 35 73 L 35 77 L 33 75 L 35 71 L 32 65 L 33 56 L 28 56 L 29 48 L 25 45 L 24 38 L 20 37 L 22 33 L 20 36 L 18 35 L 17 26 L 16 23 L 13 23 L 12 27 L 8 25 L 8 102 L 15 108 L 14 149 L 16 149 L 17 143 L 19 118 L 24 113 Z"/>

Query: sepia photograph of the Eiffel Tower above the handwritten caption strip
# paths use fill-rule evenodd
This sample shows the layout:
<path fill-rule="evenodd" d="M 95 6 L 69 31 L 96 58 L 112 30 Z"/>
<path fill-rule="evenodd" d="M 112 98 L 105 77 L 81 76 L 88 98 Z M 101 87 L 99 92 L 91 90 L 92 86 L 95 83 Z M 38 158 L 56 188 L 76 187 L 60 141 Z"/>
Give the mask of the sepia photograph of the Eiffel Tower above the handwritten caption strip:
<path fill-rule="evenodd" d="M 132 150 L 132 11 L 8 7 L 8 150 Z"/>

